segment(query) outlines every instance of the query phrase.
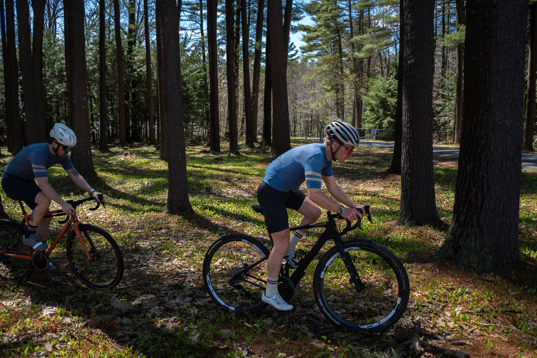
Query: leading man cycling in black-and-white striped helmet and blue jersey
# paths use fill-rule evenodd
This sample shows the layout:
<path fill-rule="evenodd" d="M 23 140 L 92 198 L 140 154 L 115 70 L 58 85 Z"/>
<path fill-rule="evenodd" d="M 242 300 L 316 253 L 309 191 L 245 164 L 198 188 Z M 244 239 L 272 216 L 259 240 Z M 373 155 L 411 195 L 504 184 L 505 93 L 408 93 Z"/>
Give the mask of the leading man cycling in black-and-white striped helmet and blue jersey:
<path fill-rule="evenodd" d="M 273 247 L 267 261 L 267 286 L 263 302 L 275 309 L 288 311 L 293 306 L 278 294 L 278 276 L 281 261 L 286 259 L 289 266 L 298 266 L 294 248 L 307 230 L 296 230 L 289 237 L 287 208 L 298 211 L 304 217 L 300 225 L 313 224 L 321 216 L 321 208 L 339 213 L 351 222 L 362 218 L 354 203 L 336 184 L 332 173 L 332 161 L 344 163 L 352 155 L 359 143 L 358 130 L 346 122 L 332 121 L 326 126 L 324 143 L 300 145 L 276 158 L 265 170 L 265 177 L 257 188 L 257 200 L 263 209 L 267 230 Z M 321 180 L 333 201 L 321 190 Z M 306 182 L 308 196 L 300 191 Z M 341 203 L 341 204 L 340 204 Z"/>

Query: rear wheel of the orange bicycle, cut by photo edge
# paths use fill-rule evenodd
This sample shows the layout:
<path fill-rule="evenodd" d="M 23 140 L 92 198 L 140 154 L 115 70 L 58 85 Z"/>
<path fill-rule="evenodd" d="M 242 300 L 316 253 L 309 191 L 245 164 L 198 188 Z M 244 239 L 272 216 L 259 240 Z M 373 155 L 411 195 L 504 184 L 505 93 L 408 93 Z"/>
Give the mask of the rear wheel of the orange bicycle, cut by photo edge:
<path fill-rule="evenodd" d="M 27 279 L 33 272 L 32 260 L 3 255 L 30 255 L 23 246 L 24 229 L 20 223 L 11 220 L 0 220 L 0 277 L 5 280 L 19 281 Z"/>

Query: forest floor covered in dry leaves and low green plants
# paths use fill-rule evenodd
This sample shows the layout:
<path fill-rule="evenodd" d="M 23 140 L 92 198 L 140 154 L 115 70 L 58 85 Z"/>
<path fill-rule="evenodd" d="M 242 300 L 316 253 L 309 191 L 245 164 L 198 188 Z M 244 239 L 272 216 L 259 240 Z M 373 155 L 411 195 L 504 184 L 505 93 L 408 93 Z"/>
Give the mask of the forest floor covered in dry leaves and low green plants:
<path fill-rule="evenodd" d="M 387 332 L 358 334 L 324 319 L 308 274 L 292 311 L 269 308 L 246 316 L 216 306 L 201 277 L 204 254 L 229 232 L 266 238 L 263 221 L 249 207 L 271 158 L 259 149 L 244 149 L 240 156 L 211 154 L 196 145 L 187 149 L 193 212 L 183 215 L 163 214 L 167 165 L 154 148 L 94 151 L 99 179 L 92 185 L 108 204 L 78 213 L 118 241 L 124 277 L 112 291 L 92 291 L 57 251 L 52 259 L 61 274 L 34 273 L 21 283 L 0 280 L 0 356 L 537 356 L 537 171 L 523 171 L 521 265 L 477 274 L 433 260 L 451 221 L 456 162 L 434 162 L 442 229 L 395 225 L 400 176 L 385 173 L 388 150 L 361 148 L 344 165 L 335 164 L 339 185 L 373 208 L 374 224 L 353 235 L 388 246 L 410 279 L 410 302 L 400 322 Z M 0 166 L 9 159 L 0 158 Z M 61 168 L 49 176 L 62 195 L 81 198 Z M 16 217 L 14 202 L 1 194 L 6 212 Z M 297 217 L 291 214 L 291 220 Z M 300 245 L 314 240 L 315 233 L 308 233 Z"/>

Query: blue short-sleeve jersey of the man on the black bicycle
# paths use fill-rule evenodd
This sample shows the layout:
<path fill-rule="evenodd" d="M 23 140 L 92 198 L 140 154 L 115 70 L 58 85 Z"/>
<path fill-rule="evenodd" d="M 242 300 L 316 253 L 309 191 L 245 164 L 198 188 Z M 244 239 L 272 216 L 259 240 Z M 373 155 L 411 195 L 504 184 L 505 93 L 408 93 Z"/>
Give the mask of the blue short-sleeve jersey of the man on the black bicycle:
<path fill-rule="evenodd" d="M 321 175 L 333 176 L 332 162 L 326 157 L 323 143 L 300 145 L 276 158 L 265 170 L 263 181 L 282 192 L 306 187 L 321 188 Z"/>

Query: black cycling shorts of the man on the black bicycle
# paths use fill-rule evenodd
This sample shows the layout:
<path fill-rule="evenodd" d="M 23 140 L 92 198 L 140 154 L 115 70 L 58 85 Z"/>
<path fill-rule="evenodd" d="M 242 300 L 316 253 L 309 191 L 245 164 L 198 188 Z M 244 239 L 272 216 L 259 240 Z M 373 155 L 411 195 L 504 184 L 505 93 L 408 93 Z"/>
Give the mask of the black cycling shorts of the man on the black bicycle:
<path fill-rule="evenodd" d="M 257 201 L 265 214 L 265 224 L 269 233 L 289 229 L 287 208 L 298 211 L 306 200 L 306 194 L 300 190 L 282 192 L 266 182 L 257 188 Z"/>

